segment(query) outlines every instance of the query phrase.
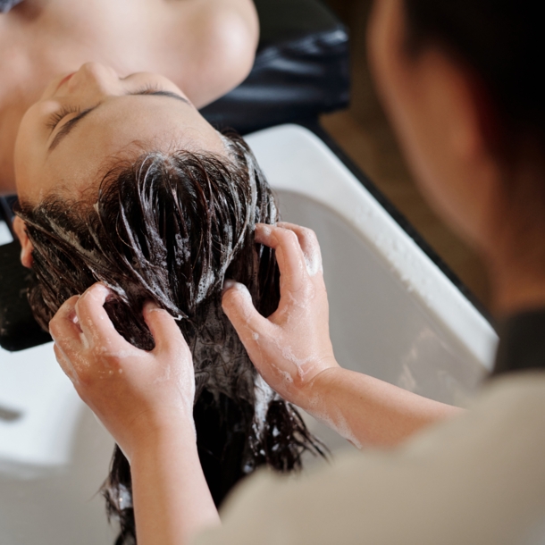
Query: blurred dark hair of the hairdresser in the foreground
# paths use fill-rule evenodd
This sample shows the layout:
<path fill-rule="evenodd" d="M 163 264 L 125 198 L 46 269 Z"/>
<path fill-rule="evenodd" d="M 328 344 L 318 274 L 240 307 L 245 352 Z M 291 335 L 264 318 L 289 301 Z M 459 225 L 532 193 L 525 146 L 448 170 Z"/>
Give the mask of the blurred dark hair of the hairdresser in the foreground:
<path fill-rule="evenodd" d="M 445 48 L 482 81 L 505 145 L 545 151 L 542 5 L 535 0 L 403 0 L 407 50 Z"/>

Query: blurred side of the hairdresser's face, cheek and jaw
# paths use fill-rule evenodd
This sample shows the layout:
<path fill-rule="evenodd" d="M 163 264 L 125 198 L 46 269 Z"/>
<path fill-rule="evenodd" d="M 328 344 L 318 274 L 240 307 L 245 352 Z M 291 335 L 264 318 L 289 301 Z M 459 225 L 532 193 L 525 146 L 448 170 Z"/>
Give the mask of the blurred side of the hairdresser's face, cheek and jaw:
<path fill-rule="evenodd" d="M 398 0 L 376 0 L 369 27 L 373 76 L 398 143 L 423 196 L 451 224 L 465 221 L 467 195 L 449 149 L 448 115 L 429 70 L 402 51 Z"/>

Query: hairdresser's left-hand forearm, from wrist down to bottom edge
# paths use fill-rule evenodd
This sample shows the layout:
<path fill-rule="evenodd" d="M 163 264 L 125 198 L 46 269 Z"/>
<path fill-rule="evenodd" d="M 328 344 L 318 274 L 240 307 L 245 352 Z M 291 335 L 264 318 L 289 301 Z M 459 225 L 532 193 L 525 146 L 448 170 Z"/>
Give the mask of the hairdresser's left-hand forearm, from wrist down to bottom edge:
<path fill-rule="evenodd" d="M 150 435 L 130 462 L 139 545 L 184 545 L 220 519 L 197 454 L 195 434 Z"/>

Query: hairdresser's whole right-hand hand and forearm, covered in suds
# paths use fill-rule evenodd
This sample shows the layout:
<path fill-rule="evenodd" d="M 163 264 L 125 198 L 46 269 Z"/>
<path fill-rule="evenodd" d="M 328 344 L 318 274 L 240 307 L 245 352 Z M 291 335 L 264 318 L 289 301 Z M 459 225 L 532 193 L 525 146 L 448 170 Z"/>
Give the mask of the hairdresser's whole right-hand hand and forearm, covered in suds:
<path fill-rule="evenodd" d="M 257 370 L 283 398 L 358 446 L 396 445 L 459 411 L 340 368 L 331 346 L 320 247 L 313 231 L 292 223 L 258 224 L 256 242 L 276 252 L 278 309 L 264 318 L 247 288 L 236 282 L 226 283 L 222 306 Z"/>

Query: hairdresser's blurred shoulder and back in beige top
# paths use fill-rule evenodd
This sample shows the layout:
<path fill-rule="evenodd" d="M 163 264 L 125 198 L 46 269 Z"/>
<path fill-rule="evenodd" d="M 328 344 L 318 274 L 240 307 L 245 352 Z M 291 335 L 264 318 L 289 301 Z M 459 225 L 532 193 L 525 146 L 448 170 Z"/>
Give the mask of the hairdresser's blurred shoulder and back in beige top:
<path fill-rule="evenodd" d="M 400 448 L 247 479 L 193 545 L 545 542 L 545 373 L 491 381 Z"/>

